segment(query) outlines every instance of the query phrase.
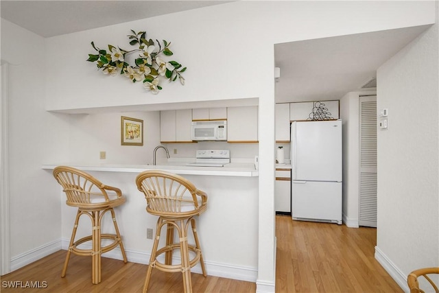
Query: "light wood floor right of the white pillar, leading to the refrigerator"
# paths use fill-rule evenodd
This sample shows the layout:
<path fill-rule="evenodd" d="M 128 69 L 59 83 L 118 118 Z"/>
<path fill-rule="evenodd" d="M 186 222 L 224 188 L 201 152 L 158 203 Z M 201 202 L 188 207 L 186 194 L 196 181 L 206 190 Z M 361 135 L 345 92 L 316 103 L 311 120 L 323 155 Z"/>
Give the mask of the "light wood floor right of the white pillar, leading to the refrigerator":
<path fill-rule="evenodd" d="M 276 293 L 403 292 L 375 259 L 375 228 L 277 215 L 276 237 Z"/>

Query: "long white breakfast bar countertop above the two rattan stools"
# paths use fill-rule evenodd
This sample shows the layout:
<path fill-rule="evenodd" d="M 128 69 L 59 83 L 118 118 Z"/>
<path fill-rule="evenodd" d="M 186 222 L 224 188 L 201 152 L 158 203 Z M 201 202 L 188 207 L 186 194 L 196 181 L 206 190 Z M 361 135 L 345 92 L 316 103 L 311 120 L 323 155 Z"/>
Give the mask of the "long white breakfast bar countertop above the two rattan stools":
<path fill-rule="evenodd" d="M 100 172 L 126 172 L 140 173 L 147 169 L 168 170 L 175 174 L 183 175 L 208 175 L 208 176 L 244 176 L 257 177 L 259 172 L 254 169 L 253 164 L 248 163 L 229 163 L 224 167 L 195 167 L 187 166 L 185 162 L 172 162 L 166 165 L 126 165 L 126 164 L 88 164 L 88 163 L 56 163 L 42 165 L 42 169 L 54 169 L 58 165 L 67 165 L 83 171 Z"/>

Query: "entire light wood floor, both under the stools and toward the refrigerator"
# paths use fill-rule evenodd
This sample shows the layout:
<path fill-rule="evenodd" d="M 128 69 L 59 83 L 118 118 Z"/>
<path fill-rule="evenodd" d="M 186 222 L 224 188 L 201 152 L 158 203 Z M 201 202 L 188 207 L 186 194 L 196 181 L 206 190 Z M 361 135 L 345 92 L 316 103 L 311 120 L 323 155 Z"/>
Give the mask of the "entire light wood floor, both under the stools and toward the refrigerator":
<path fill-rule="evenodd" d="M 202 237 L 202 235 L 201 235 Z M 374 258 L 375 228 L 292 221 L 276 216 L 276 292 L 403 292 Z M 147 266 L 102 258 L 102 282 L 91 283 L 91 258 L 65 250 L 1 277 L 1 292 L 141 292 Z M 209 274 L 209 271 L 207 272 Z M 47 282 L 47 288 L 4 288 L 4 282 Z M 194 292 L 255 292 L 256 284 L 192 274 Z M 178 273 L 152 271 L 149 292 L 182 292 Z"/>

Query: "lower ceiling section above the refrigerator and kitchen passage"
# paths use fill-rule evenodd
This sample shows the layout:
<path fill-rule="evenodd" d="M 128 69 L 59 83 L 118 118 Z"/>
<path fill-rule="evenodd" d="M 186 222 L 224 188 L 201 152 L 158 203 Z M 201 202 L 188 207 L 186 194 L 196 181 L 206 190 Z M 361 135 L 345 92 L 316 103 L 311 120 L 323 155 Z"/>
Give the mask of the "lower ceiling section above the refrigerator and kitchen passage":
<path fill-rule="evenodd" d="M 361 90 L 377 69 L 428 25 L 274 45 L 276 102 L 340 99 Z M 378 81 L 379 82 L 379 81 Z"/>

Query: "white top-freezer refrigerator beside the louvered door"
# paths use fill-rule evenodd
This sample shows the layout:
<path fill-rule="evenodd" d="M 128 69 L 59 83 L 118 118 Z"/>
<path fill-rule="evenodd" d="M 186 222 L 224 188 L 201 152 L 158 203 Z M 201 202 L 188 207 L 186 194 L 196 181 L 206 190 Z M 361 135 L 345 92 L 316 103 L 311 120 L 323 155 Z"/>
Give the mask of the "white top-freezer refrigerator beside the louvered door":
<path fill-rule="evenodd" d="M 342 224 L 342 121 L 294 121 L 292 218 Z"/>

